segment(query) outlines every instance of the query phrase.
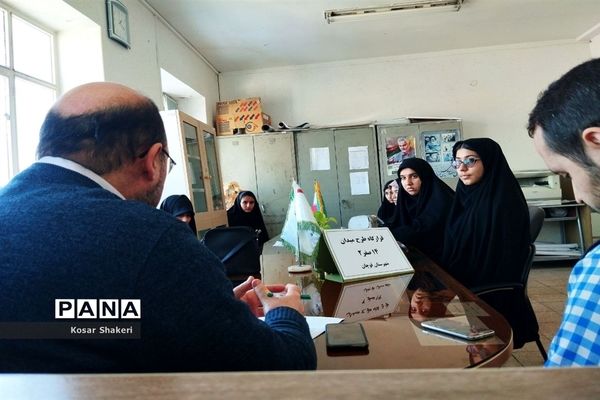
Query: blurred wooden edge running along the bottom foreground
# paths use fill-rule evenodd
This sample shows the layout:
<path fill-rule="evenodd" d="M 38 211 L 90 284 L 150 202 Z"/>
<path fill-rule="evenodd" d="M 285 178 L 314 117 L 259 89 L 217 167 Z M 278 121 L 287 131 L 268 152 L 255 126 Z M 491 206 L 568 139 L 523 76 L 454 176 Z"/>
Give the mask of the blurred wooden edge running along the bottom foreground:
<path fill-rule="evenodd" d="M 0 375 L 3 398 L 600 398 L 600 368 Z"/>

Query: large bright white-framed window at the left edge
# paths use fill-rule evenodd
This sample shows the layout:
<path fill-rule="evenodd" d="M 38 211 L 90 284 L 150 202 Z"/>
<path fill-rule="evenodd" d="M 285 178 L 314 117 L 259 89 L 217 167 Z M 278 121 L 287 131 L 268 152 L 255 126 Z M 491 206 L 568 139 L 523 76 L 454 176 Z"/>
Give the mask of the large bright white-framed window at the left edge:
<path fill-rule="evenodd" d="M 0 8 L 0 187 L 35 161 L 55 76 L 54 35 Z"/>

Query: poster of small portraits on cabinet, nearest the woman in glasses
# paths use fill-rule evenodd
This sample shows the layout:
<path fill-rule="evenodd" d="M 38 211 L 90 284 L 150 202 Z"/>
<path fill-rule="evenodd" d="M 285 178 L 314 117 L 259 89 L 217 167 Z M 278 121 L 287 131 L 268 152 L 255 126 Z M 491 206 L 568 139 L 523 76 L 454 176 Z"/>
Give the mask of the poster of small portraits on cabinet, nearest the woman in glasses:
<path fill-rule="evenodd" d="M 456 129 L 421 133 L 422 157 L 442 179 L 457 176 L 456 170 L 452 168 L 452 147 L 458 140 Z"/>

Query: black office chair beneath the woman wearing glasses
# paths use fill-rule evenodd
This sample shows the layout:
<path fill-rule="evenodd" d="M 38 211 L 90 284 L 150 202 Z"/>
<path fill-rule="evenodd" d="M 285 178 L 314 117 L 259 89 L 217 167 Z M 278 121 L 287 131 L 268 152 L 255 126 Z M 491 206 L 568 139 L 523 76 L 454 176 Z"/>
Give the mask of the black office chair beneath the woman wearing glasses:
<path fill-rule="evenodd" d="M 529 207 L 529 253 L 519 282 L 504 282 L 497 285 L 473 288 L 472 292 L 500 312 L 513 329 L 513 346 L 520 349 L 525 343 L 535 341 L 544 358 L 546 350 L 540 340 L 539 325 L 531 301 L 527 295 L 527 280 L 535 256 L 535 239 L 544 223 L 545 213 L 540 207 Z"/>

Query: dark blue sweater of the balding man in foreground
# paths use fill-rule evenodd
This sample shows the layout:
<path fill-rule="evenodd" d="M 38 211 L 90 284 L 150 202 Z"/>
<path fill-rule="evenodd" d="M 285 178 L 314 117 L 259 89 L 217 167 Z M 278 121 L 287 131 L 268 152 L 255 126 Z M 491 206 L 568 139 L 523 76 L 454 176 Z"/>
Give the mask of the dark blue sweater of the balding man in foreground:
<path fill-rule="evenodd" d="M 141 299 L 141 339 L 0 339 L 0 371 L 316 367 L 302 315 L 258 320 L 185 224 L 38 163 L 0 190 L 0 322 L 55 322 L 55 299 Z"/>

